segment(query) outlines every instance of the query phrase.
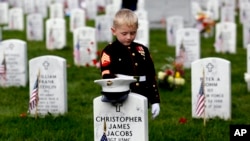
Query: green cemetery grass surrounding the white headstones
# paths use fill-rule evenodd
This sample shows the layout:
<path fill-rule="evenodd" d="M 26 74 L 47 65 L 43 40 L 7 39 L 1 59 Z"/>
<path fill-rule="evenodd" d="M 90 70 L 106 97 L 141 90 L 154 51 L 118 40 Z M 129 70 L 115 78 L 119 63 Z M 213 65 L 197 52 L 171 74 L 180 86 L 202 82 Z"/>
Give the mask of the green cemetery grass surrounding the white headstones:
<path fill-rule="evenodd" d="M 67 22 L 68 23 L 68 22 Z M 93 25 L 88 21 L 88 25 Z M 67 27 L 69 27 L 67 25 Z M 174 57 L 175 48 L 166 46 L 163 29 L 150 31 L 150 51 L 156 71 L 166 63 L 166 57 Z M 24 31 L 3 31 L 5 39 L 26 40 Z M 231 62 L 232 118 L 203 119 L 191 116 L 191 69 L 185 69 L 186 84 L 183 88 L 168 91 L 160 89 L 161 112 L 152 120 L 149 110 L 150 141 L 228 141 L 230 125 L 250 124 L 250 93 L 244 80 L 247 71 L 246 49 L 242 44 L 242 25 L 237 25 L 237 53 L 215 53 L 214 37 L 201 37 L 201 58 L 220 57 Z M 98 43 L 101 50 L 107 43 Z M 47 50 L 45 42 L 27 41 L 28 60 L 42 55 L 56 55 L 67 60 L 68 112 L 65 115 L 32 118 L 26 115 L 29 88 L 0 88 L 0 140 L 6 141 L 92 141 L 93 99 L 100 96 L 101 87 L 94 83 L 100 79 L 95 67 L 77 67 L 73 63 L 72 33 L 67 30 L 67 46 L 62 50 Z"/>

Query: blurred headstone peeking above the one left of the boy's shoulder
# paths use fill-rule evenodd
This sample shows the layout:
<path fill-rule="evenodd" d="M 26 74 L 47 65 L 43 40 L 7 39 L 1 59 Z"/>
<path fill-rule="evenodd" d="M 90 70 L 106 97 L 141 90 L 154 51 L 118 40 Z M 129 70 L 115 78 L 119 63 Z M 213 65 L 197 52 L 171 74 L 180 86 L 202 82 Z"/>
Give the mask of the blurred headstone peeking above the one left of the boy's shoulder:
<path fill-rule="evenodd" d="M 76 28 L 86 25 L 85 11 L 80 8 L 70 10 L 70 31 L 73 32 Z"/>

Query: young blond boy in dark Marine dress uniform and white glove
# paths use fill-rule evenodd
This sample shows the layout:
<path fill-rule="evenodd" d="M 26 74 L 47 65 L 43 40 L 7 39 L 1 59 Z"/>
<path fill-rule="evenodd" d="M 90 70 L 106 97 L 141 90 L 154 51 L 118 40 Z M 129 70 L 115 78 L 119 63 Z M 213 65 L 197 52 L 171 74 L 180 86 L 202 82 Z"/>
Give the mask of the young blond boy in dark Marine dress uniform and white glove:
<path fill-rule="evenodd" d="M 160 113 L 155 68 L 148 48 L 134 42 L 137 29 L 138 18 L 132 10 L 121 9 L 116 13 L 111 28 L 116 40 L 101 54 L 102 78 L 136 78 L 137 82 L 130 85 L 131 92 L 148 98 L 155 118 Z"/>

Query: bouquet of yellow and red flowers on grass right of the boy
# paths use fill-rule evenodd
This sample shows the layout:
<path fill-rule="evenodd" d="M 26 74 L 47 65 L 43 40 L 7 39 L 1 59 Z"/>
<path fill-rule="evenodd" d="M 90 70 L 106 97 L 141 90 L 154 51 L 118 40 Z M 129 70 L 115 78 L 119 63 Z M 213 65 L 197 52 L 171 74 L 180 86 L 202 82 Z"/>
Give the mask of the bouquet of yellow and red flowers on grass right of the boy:
<path fill-rule="evenodd" d="M 173 90 L 185 84 L 183 62 L 172 57 L 166 58 L 167 64 L 158 72 L 158 84 L 160 88 Z"/>

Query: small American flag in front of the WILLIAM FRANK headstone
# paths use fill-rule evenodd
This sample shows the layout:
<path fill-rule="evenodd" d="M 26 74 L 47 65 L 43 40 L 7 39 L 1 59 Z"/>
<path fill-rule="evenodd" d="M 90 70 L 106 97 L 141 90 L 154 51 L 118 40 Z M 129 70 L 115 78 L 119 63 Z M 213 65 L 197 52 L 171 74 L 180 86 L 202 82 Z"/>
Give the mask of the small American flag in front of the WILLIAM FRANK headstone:
<path fill-rule="evenodd" d="M 38 83 L 39 83 L 39 74 L 38 74 L 37 79 L 35 81 L 35 84 L 34 84 L 34 87 L 32 90 L 32 94 L 30 97 L 29 110 L 34 109 L 38 104 L 38 100 L 39 100 L 39 97 L 38 97 L 38 86 L 39 85 L 38 85 Z"/>

